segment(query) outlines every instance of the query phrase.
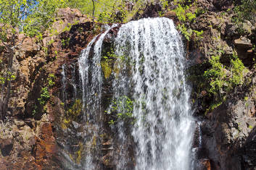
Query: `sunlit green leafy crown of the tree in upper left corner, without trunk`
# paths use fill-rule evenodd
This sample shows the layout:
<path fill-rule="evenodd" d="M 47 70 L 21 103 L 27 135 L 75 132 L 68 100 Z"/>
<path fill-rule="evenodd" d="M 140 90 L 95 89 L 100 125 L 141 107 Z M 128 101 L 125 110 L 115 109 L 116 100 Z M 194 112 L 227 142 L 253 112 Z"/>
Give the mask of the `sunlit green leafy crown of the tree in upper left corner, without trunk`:
<path fill-rule="evenodd" d="M 7 35 L 22 30 L 25 35 L 42 38 L 42 33 L 55 21 L 58 8 L 67 7 L 65 0 L 1 0 L 0 23 L 2 41 Z"/>

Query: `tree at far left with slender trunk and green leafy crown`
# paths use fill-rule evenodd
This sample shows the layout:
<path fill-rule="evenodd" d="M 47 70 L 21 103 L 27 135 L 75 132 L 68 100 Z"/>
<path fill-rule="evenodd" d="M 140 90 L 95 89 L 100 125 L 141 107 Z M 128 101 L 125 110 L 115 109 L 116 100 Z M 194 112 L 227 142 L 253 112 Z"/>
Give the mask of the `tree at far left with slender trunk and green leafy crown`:
<path fill-rule="evenodd" d="M 54 22 L 56 9 L 64 6 L 65 0 L 0 0 L 0 46 L 7 50 L 7 67 L 0 72 L 0 119 L 5 119 L 11 82 L 15 79 L 15 51 L 25 39 L 19 40 L 19 33 L 43 33 Z"/>

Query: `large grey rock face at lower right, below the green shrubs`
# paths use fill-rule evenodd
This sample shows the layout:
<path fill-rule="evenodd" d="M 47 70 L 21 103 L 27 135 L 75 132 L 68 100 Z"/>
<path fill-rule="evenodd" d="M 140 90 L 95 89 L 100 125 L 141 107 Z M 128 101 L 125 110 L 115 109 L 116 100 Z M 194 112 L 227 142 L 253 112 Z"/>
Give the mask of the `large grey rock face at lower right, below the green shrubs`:
<path fill-rule="evenodd" d="M 251 110 L 255 108 L 255 101 L 249 95 L 254 92 L 243 90 L 244 95 L 237 93 L 208 113 L 207 120 L 202 123 L 202 147 L 207 150 L 205 158 L 210 159 L 212 169 L 254 166 L 256 118 Z"/>

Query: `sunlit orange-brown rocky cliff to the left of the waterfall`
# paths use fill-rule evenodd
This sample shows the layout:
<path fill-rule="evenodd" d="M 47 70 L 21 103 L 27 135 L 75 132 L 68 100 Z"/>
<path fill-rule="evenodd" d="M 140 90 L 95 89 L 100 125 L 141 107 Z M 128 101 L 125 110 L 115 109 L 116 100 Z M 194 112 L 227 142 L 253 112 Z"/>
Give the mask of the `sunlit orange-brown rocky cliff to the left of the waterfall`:
<path fill-rule="evenodd" d="M 90 20 L 76 9 L 60 9 L 58 16 L 43 39 L 25 38 L 15 54 L 17 77 L 0 130 L 0 169 L 63 169 L 56 131 L 65 114 L 59 99 L 61 66 L 76 63 L 93 33 Z M 5 55 L 1 50 L 3 63 Z"/>

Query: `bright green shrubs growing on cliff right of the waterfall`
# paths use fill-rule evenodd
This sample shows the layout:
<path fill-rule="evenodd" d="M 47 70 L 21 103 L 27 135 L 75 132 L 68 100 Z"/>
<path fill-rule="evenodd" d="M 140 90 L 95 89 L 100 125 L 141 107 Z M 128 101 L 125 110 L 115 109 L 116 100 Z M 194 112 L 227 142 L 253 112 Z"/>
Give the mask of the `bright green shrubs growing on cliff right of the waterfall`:
<path fill-rule="evenodd" d="M 223 51 L 215 52 L 216 55 L 211 56 L 209 61 L 188 70 L 189 81 L 195 85 L 192 96 L 194 96 L 193 98 L 203 98 L 203 100 L 199 100 L 202 102 L 201 105 L 206 108 L 205 114 L 226 101 L 228 93 L 244 83 L 244 75 L 248 71 L 235 54 L 227 58 L 224 63 L 221 60 Z M 245 97 L 244 101 L 246 100 Z"/>

